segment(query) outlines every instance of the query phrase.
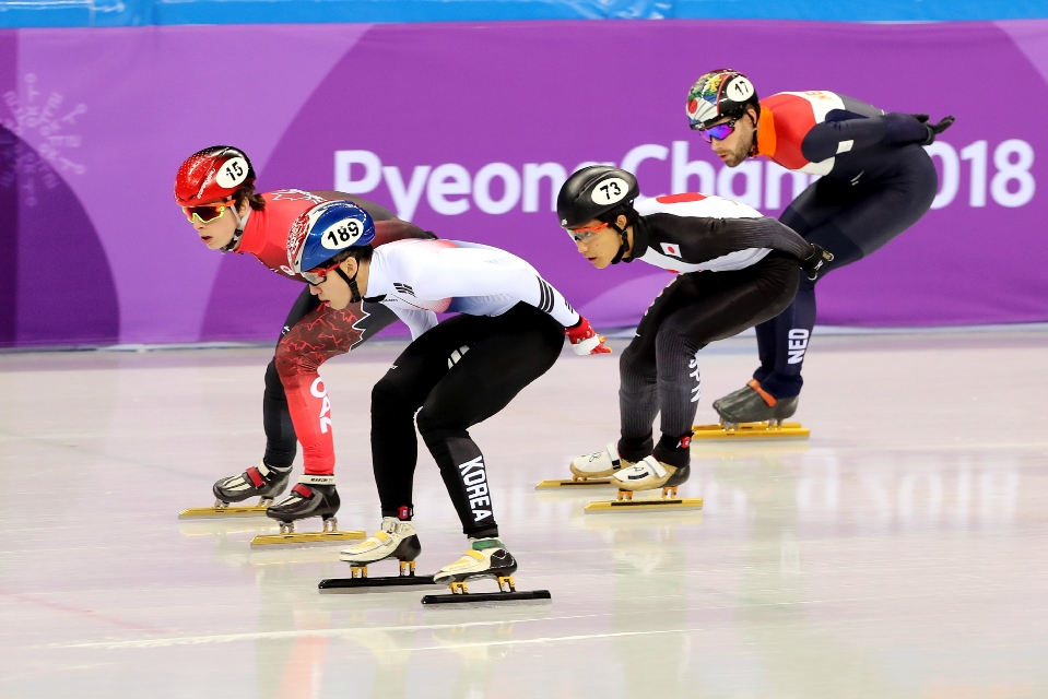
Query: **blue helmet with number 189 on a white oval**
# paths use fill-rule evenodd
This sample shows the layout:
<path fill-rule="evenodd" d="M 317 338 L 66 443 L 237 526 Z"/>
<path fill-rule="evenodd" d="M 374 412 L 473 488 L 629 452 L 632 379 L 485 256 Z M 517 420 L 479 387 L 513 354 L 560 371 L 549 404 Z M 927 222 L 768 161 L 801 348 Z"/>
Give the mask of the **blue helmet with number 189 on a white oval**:
<path fill-rule="evenodd" d="M 287 264 L 302 274 L 346 248 L 363 248 L 374 239 L 370 214 L 351 201 L 326 201 L 303 212 L 291 226 Z"/>

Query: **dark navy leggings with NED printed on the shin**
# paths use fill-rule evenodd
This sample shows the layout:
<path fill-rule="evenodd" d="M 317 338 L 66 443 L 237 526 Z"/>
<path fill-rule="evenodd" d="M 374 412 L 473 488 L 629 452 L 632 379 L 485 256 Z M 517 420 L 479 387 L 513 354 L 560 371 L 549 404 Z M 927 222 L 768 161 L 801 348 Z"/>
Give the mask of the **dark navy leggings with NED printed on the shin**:
<path fill-rule="evenodd" d="M 892 176 L 852 187 L 823 177 L 801 192 L 779 221 L 834 254 L 819 279 L 882 248 L 931 209 L 939 178 L 919 145 L 898 152 Z M 885 280 L 891 283 L 891 280 Z M 757 325 L 761 367 L 753 378 L 776 398 L 799 395 L 801 367 L 815 327 L 815 283 L 801 276 L 797 298 L 777 318 Z"/>

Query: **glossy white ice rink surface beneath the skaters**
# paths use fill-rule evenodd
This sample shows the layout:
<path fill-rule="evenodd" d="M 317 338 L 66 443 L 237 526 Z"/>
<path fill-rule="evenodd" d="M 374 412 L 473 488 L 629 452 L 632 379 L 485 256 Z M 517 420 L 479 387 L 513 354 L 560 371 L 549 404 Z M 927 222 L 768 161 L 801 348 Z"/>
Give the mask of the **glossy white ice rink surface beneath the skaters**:
<path fill-rule="evenodd" d="M 702 353 L 698 422 L 754 344 Z M 379 521 L 367 400 L 400 346 L 322 370 L 341 529 Z M 617 354 L 565 354 L 473 430 L 517 587 L 552 604 L 473 609 L 321 595 L 339 546 L 177 519 L 261 457 L 270 356 L 0 355 L 0 697 L 1048 697 L 1048 331 L 816 337 L 811 440 L 696 443 L 705 508 L 663 514 L 534 490 L 617 431 Z M 464 538 L 427 454 L 415 491 L 432 571 Z"/>

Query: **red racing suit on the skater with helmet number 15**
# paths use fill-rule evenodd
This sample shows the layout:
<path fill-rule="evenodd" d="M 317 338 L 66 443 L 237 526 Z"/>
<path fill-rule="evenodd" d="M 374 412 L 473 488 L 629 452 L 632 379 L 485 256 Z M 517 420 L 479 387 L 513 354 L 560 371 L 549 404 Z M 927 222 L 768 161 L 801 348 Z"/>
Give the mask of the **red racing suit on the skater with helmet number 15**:
<path fill-rule="evenodd" d="M 372 214 L 375 220 L 375 241 L 378 247 L 393 240 L 405 238 L 434 238 L 415 225 L 395 217 L 386 209 L 362 200 L 355 196 L 340 192 L 307 192 L 297 189 L 282 189 L 262 194 L 266 206 L 252 211 L 236 252 L 252 254 L 273 272 L 305 283 L 302 276 L 287 266 L 287 234 L 292 224 L 311 206 L 334 199 L 353 201 Z M 345 354 L 360 344 L 368 330 L 370 313 L 362 304 L 350 304 L 342 310 L 334 310 L 316 303 L 308 296 L 308 288 L 295 304 L 289 322 L 283 328 L 276 344 L 274 365 L 280 383 L 286 396 L 286 406 L 294 425 L 295 436 L 302 445 L 303 460 L 307 475 L 331 475 L 334 472 L 334 439 L 331 423 L 331 401 L 328 399 L 323 381 L 318 374 L 320 365 L 331 357 Z M 297 316 L 297 317 L 296 317 Z M 388 324 L 388 322 L 387 322 Z M 372 329 L 372 333 L 377 330 Z M 267 399 L 273 387 L 267 386 Z M 263 413 L 279 410 L 271 404 L 280 401 L 267 400 Z M 281 423 L 281 416 L 263 415 L 267 437 L 273 441 L 270 426 Z M 271 446 L 271 445 L 270 445 Z M 267 462 L 270 448 L 267 449 Z M 294 458 L 292 449 L 291 459 Z M 284 465 L 284 464 L 270 464 Z M 286 465 L 291 465 L 290 461 Z"/>

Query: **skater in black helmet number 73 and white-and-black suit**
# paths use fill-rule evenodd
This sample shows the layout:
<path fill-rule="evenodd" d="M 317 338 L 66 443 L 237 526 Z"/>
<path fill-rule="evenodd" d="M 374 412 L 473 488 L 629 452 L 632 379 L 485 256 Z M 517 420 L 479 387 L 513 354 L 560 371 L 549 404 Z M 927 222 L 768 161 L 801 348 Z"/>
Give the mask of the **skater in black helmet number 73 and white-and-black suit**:
<path fill-rule="evenodd" d="M 696 353 L 778 316 L 797 292 L 798 269 L 815 275 L 827 259 L 817 245 L 744 204 L 697 193 L 634 202 L 639 193 L 629 173 L 593 166 L 572 175 L 557 197 L 561 225 L 597 269 L 643 260 L 679 273 L 619 362 L 619 443 L 572 462 L 576 476 L 612 476 L 621 490 L 687 479 Z"/>

